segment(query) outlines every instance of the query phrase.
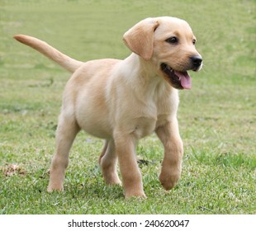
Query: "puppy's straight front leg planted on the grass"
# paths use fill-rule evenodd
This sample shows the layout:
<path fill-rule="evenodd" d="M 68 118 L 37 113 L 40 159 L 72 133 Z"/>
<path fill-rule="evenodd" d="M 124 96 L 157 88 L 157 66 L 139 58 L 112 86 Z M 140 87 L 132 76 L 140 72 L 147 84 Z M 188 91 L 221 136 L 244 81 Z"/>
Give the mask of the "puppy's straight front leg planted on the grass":
<path fill-rule="evenodd" d="M 146 197 L 143 191 L 140 168 L 138 167 L 135 155 L 136 139 L 132 134 L 117 131 L 114 134 L 114 141 L 125 197 Z"/>

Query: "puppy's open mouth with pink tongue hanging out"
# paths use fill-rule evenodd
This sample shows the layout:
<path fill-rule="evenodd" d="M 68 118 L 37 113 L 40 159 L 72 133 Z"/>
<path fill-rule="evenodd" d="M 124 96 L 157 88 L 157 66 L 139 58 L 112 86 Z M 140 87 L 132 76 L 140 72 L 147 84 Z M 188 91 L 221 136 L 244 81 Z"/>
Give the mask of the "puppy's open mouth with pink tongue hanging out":
<path fill-rule="evenodd" d="M 173 70 L 168 64 L 161 64 L 161 70 L 168 82 L 177 89 L 190 89 L 192 80 L 187 71 L 180 72 Z"/>

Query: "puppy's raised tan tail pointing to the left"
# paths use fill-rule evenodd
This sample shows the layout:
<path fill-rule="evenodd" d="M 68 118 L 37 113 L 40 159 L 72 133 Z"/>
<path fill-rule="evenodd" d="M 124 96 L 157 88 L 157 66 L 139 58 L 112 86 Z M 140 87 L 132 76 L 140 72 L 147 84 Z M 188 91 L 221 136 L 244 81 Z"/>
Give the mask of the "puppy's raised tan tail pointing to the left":
<path fill-rule="evenodd" d="M 36 39 L 28 35 L 14 35 L 14 39 L 18 40 L 22 44 L 31 46 L 31 48 L 38 50 L 41 54 L 44 54 L 49 59 L 55 61 L 61 67 L 65 68 L 69 72 L 73 73 L 79 68 L 83 62 L 72 59 L 69 56 L 62 54 L 59 50 L 56 50 L 52 46 L 48 45 L 42 40 Z"/>

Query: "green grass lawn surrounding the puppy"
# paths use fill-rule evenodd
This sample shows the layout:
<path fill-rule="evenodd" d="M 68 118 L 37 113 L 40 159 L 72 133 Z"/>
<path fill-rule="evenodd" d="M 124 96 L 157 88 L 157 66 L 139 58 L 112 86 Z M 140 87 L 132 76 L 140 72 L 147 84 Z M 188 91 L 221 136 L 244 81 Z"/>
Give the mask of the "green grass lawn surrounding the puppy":
<path fill-rule="evenodd" d="M 61 3 L 60 3 L 61 2 Z M 0 4 L 0 214 L 255 214 L 255 1 L 5 1 Z M 172 191 L 160 186 L 163 147 L 138 156 L 147 200 L 125 200 L 97 165 L 102 140 L 78 134 L 64 193 L 49 194 L 50 160 L 69 73 L 12 35 L 46 40 L 75 59 L 124 59 L 121 36 L 147 16 L 186 19 L 204 58 L 180 92 L 185 153 Z"/>

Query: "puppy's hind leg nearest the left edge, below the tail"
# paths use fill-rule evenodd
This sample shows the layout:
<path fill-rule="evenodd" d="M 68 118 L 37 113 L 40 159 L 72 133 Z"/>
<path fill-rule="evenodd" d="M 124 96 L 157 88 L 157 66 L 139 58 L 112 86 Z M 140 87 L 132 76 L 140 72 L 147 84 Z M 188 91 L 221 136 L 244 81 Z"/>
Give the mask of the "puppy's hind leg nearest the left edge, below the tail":
<path fill-rule="evenodd" d="M 59 116 L 56 131 L 56 153 L 50 167 L 50 181 L 47 191 L 63 191 L 64 176 L 69 164 L 69 150 L 73 139 L 78 134 L 79 127 L 75 120 L 68 116 Z"/>

